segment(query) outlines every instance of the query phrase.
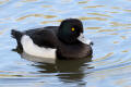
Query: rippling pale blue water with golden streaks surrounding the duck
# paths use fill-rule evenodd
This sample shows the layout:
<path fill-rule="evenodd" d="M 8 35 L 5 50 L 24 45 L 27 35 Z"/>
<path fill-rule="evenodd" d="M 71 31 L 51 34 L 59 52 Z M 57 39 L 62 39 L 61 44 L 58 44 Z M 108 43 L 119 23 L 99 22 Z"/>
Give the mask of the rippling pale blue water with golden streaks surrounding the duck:
<path fill-rule="evenodd" d="M 0 0 L 0 87 L 130 87 L 131 0 Z M 12 51 L 12 28 L 25 30 L 83 22 L 93 58 L 35 59 Z"/>

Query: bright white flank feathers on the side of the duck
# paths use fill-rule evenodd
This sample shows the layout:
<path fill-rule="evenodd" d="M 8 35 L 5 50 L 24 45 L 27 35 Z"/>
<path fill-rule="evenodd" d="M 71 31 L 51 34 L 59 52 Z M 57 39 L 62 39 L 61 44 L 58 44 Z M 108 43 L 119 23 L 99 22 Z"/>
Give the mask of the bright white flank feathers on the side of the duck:
<path fill-rule="evenodd" d="M 41 58 L 51 58 L 51 59 L 56 58 L 56 49 L 38 47 L 33 42 L 31 37 L 27 35 L 24 35 L 22 37 L 21 44 L 23 46 L 24 52 L 31 55 L 41 57 Z"/>

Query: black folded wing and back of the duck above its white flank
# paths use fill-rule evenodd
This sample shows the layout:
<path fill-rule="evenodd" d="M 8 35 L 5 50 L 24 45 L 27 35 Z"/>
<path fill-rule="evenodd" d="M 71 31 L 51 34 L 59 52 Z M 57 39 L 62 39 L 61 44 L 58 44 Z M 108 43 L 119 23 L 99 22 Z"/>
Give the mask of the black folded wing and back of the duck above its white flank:
<path fill-rule="evenodd" d="M 26 30 L 25 34 L 28 35 L 33 39 L 34 44 L 39 47 L 56 48 L 58 41 L 57 32 L 58 26 L 48 26 L 44 28 L 29 29 Z"/>

